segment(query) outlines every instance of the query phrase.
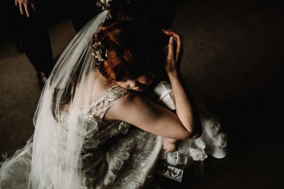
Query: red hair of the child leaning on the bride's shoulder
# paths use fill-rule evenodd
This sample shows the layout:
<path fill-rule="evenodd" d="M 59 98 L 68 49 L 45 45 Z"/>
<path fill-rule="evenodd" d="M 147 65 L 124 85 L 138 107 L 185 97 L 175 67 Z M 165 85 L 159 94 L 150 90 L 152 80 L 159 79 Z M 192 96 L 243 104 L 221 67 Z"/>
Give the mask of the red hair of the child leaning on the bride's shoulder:
<path fill-rule="evenodd" d="M 144 28 L 135 22 L 121 21 L 104 26 L 94 34 L 92 43 L 100 41 L 107 50 L 101 74 L 109 82 L 155 72 L 160 64 L 156 61 L 159 53 L 155 48 L 155 35 Z"/>

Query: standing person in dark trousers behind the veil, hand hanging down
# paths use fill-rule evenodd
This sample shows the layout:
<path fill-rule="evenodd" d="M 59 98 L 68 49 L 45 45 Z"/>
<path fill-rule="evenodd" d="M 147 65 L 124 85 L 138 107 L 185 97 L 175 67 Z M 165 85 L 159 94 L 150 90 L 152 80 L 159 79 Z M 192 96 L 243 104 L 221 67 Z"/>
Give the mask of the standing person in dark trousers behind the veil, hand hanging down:
<path fill-rule="evenodd" d="M 42 89 L 54 66 L 48 27 L 58 19 L 70 17 L 76 32 L 79 32 L 98 14 L 96 1 L 15 0 L 14 4 L 17 7 L 12 8 L 9 5 L 12 8 L 12 30 L 16 38 L 20 39 L 23 51 L 35 68 Z"/>

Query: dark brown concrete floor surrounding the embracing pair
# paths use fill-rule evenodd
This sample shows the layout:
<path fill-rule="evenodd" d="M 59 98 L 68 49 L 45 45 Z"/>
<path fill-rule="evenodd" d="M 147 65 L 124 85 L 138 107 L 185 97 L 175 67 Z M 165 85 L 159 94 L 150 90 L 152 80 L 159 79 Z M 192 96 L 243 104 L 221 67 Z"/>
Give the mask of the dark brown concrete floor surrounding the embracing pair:
<path fill-rule="evenodd" d="M 192 0 L 172 29 L 183 35 L 182 70 L 198 101 L 223 123 L 230 152 L 205 161 L 204 176 L 164 188 L 284 188 L 284 11 L 277 1 Z M 75 35 L 70 21 L 49 28 L 54 57 Z M 33 133 L 40 90 L 13 43 L 0 46 L 0 153 Z M 212 159 L 212 158 L 211 158 Z"/>

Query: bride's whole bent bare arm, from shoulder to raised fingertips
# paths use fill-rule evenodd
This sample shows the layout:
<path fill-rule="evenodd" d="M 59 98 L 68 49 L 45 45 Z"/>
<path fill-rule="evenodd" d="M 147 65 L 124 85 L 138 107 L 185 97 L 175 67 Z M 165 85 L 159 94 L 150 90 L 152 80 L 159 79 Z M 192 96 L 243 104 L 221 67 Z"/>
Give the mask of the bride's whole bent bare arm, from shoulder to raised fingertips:
<path fill-rule="evenodd" d="M 165 69 L 175 95 L 176 114 L 157 105 L 141 94 L 132 92 L 110 107 L 104 119 L 119 119 L 145 131 L 170 139 L 196 139 L 202 134 L 198 109 L 180 74 L 183 53 L 181 37 L 164 30 L 172 36 Z"/>

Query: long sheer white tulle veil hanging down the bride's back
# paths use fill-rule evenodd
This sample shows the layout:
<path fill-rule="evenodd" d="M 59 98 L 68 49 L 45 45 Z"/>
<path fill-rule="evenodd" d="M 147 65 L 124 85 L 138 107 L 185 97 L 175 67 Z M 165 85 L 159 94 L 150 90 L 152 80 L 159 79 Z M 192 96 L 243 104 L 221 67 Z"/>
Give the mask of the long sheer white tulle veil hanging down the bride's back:
<path fill-rule="evenodd" d="M 34 116 L 29 188 L 80 188 L 81 153 L 88 120 L 80 114 L 84 113 L 82 107 L 93 100 L 92 92 L 96 90 L 90 40 L 107 14 L 104 11 L 97 15 L 75 36 L 45 84 Z M 70 101 L 64 105 L 64 99 Z"/>

